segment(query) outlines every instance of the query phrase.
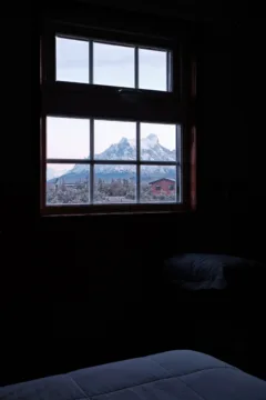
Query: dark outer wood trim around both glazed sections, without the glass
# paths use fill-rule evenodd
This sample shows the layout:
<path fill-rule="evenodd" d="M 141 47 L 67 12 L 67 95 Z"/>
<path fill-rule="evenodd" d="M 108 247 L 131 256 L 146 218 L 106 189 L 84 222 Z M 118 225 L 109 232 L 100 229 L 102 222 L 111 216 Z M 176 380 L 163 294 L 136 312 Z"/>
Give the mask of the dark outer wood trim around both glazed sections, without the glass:
<path fill-rule="evenodd" d="M 47 28 L 49 27 L 49 28 Z M 88 27 L 73 26 L 68 23 L 60 23 L 54 29 L 54 22 L 48 24 L 44 29 L 44 34 L 42 36 L 42 116 L 41 116 L 41 211 L 42 214 L 93 214 L 93 213 L 132 213 L 132 212 L 176 212 L 176 211 L 188 211 L 191 210 L 191 140 L 190 134 L 192 129 L 192 119 L 191 111 L 188 110 L 188 100 L 190 100 L 190 88 L 191 88 L 191 64 L 190 64 L 190 49 L 184 46 L 186 41 L 178 42 L 177 44 L 173 40 L 163 39 L 151 39 L 149 37 L 143 37 L 135 34 L 132 37 L 129 33 L 121 34 L 115 32 L 119 41 L 127 41 L 131 36 L 132 44 L 136 44 L 136 38 L 142 38 L 142 41 L 137 41 L 140 47 L 153 47 L 153 42 L 156 42 L 155 48 L 161 47 L 164 43 L 163 48 L 172 49 L 172 58 L 175 66 L 178 66 L 178 73 L 174 74 L 173 79 L 173 92 L 156 92 L 150 90 L 141 90 L 134 93 L 133 90 L 129 90 L 127 94 L 136 97 L 137 101 L 135 106 L 132 107 L 132 103 L 126 104 L 126 101 L 122 101 L 121 106 L 121 96 L 117 94 L 117 91 L 121 88 L 115 87 L 102 87 L 96 84 L 86 84 L 86 83 L 69 83 L 69 82 L 57 82 L 55 79 L 55 32 L 69 33 L 70 36 L 81 37 L 82 33 L 88 40 L 88 37 L 92 38 L 94 31 L 98 31 L 98 38 L 100 30 L 91 30 Z M 91 32 L 88 34 L 88 32 Z M 114 33 L 105 30 L 104 33 L 105 41 L 113 41 Z M 103 36 L 101 37 L 103 38 Z M 126 38 L 126 40 L 124 40 Z M 94 39 L 94 38 L 93 38 Z M 149 43 L 145 46 L 145 43 Z M 166 43 L 168 43 L 166 46 Z M 171 43 L 171 44 L 170 44 Z M 90 113 L 88 111 L 88 100 L 94 93 L 94 99 L 99 99 L 99 103 L 93 102 L 94 108 L 90 108 Z M 121 94 L 121 93 L 120 93 Z M 105 99 L 105 106 L 102 104 L 102 99 Z M 115 101 L 120 111 L 108 113 L 108 104 L 110 101 Z M 101 102 L 101 108 L 100 108 Z M 86 107 L 82 108 L 82 104 Z M 92 103 L 91 103 L 92 104 Z M 145 104 L 146 107 L 140 107 L 140 104 Z M 150 106 L 150 107 L 149 107 Z M 162 108 L 163 107 L 163 108 Z M 115 109 L 115 108 L 114 108 Z M 140 109 L 145 109 L 145 111 L 140 111 Z M 161 112 L 156 112 L 161 110 Z M 162 112 L 162 109 L 165 110 Z M 181 174 L 181 188 L 183 202 L 182 203 L 132 203 L 132 204 L 89 204 L 89 206 L 70 206 L 70 207 L 51 207 L 45 206 L 45 116 L 57 116 L 57 117 L 81 117 L 81 118 L 91 118 L 91 119 L 114 119 L 114 120 L 133 120 L 142 122 L 162 122 L 162 123 L 176 123 L 182 124 L 182 139 L 181 142 L 181 164 L 178 168 Z M 157 162 L 160 163 L 160 162 Z M 140 168 L 140 166 L 139 166 Z M 93 184 L 93 182 L 92 182 Z M 177 186 L 176 186 L 177 190 Z"/>

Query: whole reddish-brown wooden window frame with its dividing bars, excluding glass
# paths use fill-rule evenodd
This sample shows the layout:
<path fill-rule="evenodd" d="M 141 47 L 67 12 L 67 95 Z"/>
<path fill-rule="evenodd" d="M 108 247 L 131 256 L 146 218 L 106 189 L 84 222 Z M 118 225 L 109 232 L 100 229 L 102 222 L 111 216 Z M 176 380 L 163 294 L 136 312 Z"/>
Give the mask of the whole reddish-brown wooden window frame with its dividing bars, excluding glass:
<path fill-rule="evenodd" d="M 121 88 L 91 83 L 72 83 L 55 80 L 55 37 L 83 38 L 85 40 L 105 41 L 106 43 L 132 44 L 140 48 L 165 49 L 171 51 L 172 86 L 170 80 L 167 88 L 171 91 L 161 92 L 154 90 L 123 89 L 127 100 L 121 96 Z M 91 54 L 90 54 L 91 56 Z M 91 59 L 91 58 L 90 58 Z M 170 61 L 170 56 L 167 57 Z M 79 23 L 47 21 L 41 38 L 41 178 L 40 178 L 40 208 L 43 216 L 61 214 L 109 214 L 109 213 L 137 213 L 137 212 L 183 212 L 192 210 L 192 144 L 193 138 L 190 132 L 194 127 L 194 112 L 191 103 L 193 73 L 195 66 L 192 63 L 190 47 L 185 41 L 176 42 L 168 38 L 142 37 L 123 31 L 88 28 Z M 90 61 L 91 62 L 91 61 Z M 90 69 L 91 70 L 91 69 Z M 137 77 L 135 77 L 137 83 Z M 93 102 L 91 99 L 93 98 Z M 133 99 L 129 101 L 129 99 Z M 137 99 L 135 101 L 135 99 Z M 112 104 L 112 107 L 110 107 Z M 90 107 L 89 107 L 90 106 Z M 75 117 L 94 119 L 134 121 L 139 126 L 136 136 L 140 136 L 140 122 L 174 123 L 182 127 L 182 134 L 176 133 L 181 140 L 181 203 L 124 203 L 124 204 L 71 204 L 47 206 L 45 204 L 45 166 L 47 162 L 47 117 Z M 176 129 L 177 131 L 177 129 Z M 91 139 L 93 133 L 91 133 Z M 139 138 L 140 140 L 140 138 Z M 177 142 L 176 142 L 177 143 Z M 91 148 L 93 140 L 91 140 Z M 194 148 L 193 148 L 194 149 Z M 57 160 L 68 163 L 91 163 L 90 160 Z M 140 161 L 140 160 L 139 160 Z M 140 168 L 141 162 L 99 162 L 99 163 L 134 163 Z M 95 160 L 93 163 L 96 163 Z M 149 161 L 143 161 L 150 164 Z M 151 162 L 151 164 L 171 164 L 171 162 Z M 176 164 L 176 163 L 174 163 Z M 140 171 L 139 171 L 140 172 Z M 91 183 L 93 184 L 93 182 Z M 177 191 L 177 186 L 176 186 Z M 177 193 L 176 193 L 177 194 Z M 194 194 L 195 196 L 195 194 Z M 194 199 L 194 197 L 193 197 Z"/>

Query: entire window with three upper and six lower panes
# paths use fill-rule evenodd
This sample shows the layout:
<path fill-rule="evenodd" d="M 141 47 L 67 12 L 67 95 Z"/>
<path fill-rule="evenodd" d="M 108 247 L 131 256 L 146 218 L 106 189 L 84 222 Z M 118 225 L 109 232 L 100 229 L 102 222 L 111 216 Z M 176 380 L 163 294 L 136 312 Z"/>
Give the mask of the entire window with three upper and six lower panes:
<path fill-rule="evenodd" d="M 50 28 L 41 54 L 42 211 L 184 208 L 188 134 L 175 46 Z"/>

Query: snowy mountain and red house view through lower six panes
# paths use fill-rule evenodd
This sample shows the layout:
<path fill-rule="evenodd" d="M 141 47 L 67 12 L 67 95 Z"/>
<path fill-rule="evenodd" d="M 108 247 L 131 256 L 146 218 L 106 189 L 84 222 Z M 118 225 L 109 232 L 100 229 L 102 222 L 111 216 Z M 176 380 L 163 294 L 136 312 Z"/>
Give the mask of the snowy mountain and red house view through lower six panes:
<path fill-rule="evenodd" d="M 175 124 L 48 117 L 47 204 L 177 202 L 178 138 Z"/>

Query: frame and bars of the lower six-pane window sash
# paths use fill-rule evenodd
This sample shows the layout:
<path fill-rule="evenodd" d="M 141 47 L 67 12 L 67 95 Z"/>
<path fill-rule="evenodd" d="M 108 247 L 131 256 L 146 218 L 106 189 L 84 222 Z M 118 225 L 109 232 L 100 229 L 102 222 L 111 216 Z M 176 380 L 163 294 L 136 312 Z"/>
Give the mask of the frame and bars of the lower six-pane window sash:
<path fill-rule="evenodd" d="M 157 120 L 141 120 L 136 121 L 133 120 L 134 122 L 136 122 L 136 160 L 95 160 L 95 159 L 88 159 L 88 160 L 81 160 L 81 159 L 48 159 L 47 158 L 47 129 L 45 129 L 45 117 L 51 117 L 51 114 L 45 114 L 43 113 L 43 117 L 41 118 L 41 208 L 42 211 L 51 212 L 51 213 L 62 213 L 62 208 L 68 208 L 68 212 L 69 213 L 69 209 L 72 209 L 73 212 L 78 212 L 78 213 L 91 213 L 91 212 L 103 212 L 102 209 L 99 210 L 99 206 L 93 204 L 93 206 L 79 206 L 81 207 L 80 210 L 76 209 L 75 206 L 62 206 L 62 208 L 60 206 L 55 206 L 54 208 L 51 206 L 47 206 L 45 203 L 45 166 L 47 163 L 83 163 L 83 164 L 90 164 L 93 166 L 94 164 L 135 164 L 136 166 L 136 196 L 137 199 L 140 198 L 140 184 L 139 184 L 139 180 L 140 180 L 140 169 L 142 164 L 145 166 L 173 166 L 176 167 L 176 181 L 180 182 L 180 192 L 178 192 L 178 198 L 181 199 L 180 203 L 175 203 L 174 206 L 176 207 L 175 211 L 180 211 L 178 208 L 182 207 L 182 209 L 188 209 L 190 208 L 190 136 L 186 133 L 187 132 L 187 124 L 186 123 L 180 123 L 180 121 L 176 124 L 176 149 L 180 149 L 180 157 L 176 159 L 176 161 L 146 161 L 146 160 L 141 160 L 140 159 L 140 123 L 141 122 L 166 122 L 166 123 L 171 123 L 171 121 L 168 119 L 165 119 L 165 121 L 157 121 Z M 71 112 L 64 112 L 63 114 L 58 116 L 52 114 L 53 117 L 71 117 Z M 76 117 L 76 114 L 74 114 Z M 120 114 L 121 116 L 121 114 Z M 91 116 L 85 114 L 85 117 L 90 118 L 90 154 L 93 154 L 94 151 L 94 129 L 93 129 L 93 120 L 94 118 L 92 118 Z M 106 116 L 104 119 L 108 119 Z M 122 118 L 117 118 L 119 120 L 122 120 Z M 126 119 L 127 121 L 127 119 Z M 176 120 L 173 121 L 173 123 L 176 123 Z M 177 134 L 177 131 L 180 129 L 180 133 Z M 94 174 L 93 174 L 93 168 L 90 168 L 90 192 L 93 192 L 93 180 L 94 180 Z M 176 186 L 176 190 L 177 190 L 177 186 Z M 177 193 L 176 193 L 177 196 Z M 177 199 L 177 197 L 176 197 Z M 131 211 L 130 212 L 136 212 L 139 209 L 139 211 L 144 211 L 144 210 L 150 210 L 150 207 L 153 206 L 151 203 L 149 204 L 143 204 L 143 203 L 137 203 L 134 204 L 136 206 L 136 209 L 132 209 L 131 207 Z M 141 206 L 139 209 L 137 207 Z M 145 206 L 144 208 L 142 206 Z M 162 211 L 168 211 L 171 210 L 171 212 L 174 210 L 173 209 L 173 204 L 166 204 L 166 203 L 161 203 L 162 206 Z M 84 208 L 89 207 L 88 210 L 85 210 Z M 106 212 L 113 212 L 113 208 L 106 204 L 101 204 L 101 207 L 106 207 Z M 122 207 L 121 212 L 124 211 L 129 211 L 124 204 L 120 204 L 120 207 Z M 93 210 L 92 210 L 93 208 Z M 132 211 L 133 210 L 133 211 Z M 155 210 L 158 211 L 157 208 L 152 207 L 151 210 Z M 116 208 L 114 209 L 114 212 L 116 212 Z M 71 212 L 70 212 L 71 213 Z"/>

